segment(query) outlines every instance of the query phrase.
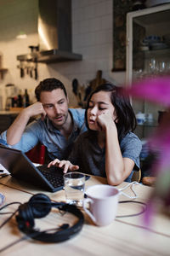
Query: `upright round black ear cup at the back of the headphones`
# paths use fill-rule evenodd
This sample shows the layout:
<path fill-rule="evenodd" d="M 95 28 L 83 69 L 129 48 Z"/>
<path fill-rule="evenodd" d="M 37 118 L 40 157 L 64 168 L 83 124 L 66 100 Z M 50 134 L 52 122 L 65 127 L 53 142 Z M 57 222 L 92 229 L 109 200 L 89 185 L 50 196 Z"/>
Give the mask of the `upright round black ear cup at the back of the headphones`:
<path fill-rule="evenodd" d="M 51 201 L 47 195 L 37 194 L 33 195 L 28 201 L 31 206 L 33 218 L 42 218 L 48 215 L 51 211 Z"/>

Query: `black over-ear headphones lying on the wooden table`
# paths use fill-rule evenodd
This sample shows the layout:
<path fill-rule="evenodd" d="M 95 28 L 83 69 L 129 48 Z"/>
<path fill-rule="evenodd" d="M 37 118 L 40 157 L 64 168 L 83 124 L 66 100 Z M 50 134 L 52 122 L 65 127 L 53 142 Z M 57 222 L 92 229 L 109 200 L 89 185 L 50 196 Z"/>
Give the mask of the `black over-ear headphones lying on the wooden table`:
<path fill-rule="evenodd" d="M 48 233 L 48 230 L 38 231 L 34 229 L 34 218 L 43 218 L 51 211 L 51 207 L 58 208 L 59 211 L 71 212 L 76 215 L 78 221 L 70 227 L 69 224 L 62 224 L 54 233 Z M 27 236 L 37 240 L 46 242 L 58 242 L 70 239 L 82 230 L 84 217 L 82 212 L 74 205 L 66 204 L 65 202 L 52 202 L 47 195 L 33 195 L 31 199 L 20 205 L 18 214 L 16 215 L 19 230 Z"/>

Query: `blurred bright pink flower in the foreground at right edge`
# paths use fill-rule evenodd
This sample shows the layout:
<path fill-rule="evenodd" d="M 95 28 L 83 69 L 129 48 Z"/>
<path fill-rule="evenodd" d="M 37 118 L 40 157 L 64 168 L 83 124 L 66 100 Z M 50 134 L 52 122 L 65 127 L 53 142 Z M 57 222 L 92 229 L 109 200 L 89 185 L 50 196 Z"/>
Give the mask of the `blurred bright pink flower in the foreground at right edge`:
<path fill-rule="evenodd" d="M 159 154 L 152 166 L 152 171 L 156 173 L 156 187 L 150 197 L 146 214 L 148 219 L 154 201 L 161 200 L 164 206 L 170 206 L 170 76 L 143 79 L 128 86 L 124 91 L 137 99 L 161 103 L 167 108 L 161 124 L 149 138 L 151 150 L 158 150 Z"/>

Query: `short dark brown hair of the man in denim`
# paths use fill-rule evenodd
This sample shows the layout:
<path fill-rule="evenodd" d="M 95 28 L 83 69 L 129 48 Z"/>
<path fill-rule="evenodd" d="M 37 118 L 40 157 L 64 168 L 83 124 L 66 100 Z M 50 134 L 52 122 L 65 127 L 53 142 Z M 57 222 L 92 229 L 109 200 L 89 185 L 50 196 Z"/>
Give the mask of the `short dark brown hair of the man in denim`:
<path fill-rule="evenodd" d="M 42 91 L 52 91 L 55 89 L 64 90 L 65 96 L 67 97 L 67 93 L 65 90 L 65 85 L 59 81 L 58 79 L 44 79 L 42 80 L 35 89 L 35 94 L 37 97 L 37 101 L 40 101 L 40 94 Z"/>

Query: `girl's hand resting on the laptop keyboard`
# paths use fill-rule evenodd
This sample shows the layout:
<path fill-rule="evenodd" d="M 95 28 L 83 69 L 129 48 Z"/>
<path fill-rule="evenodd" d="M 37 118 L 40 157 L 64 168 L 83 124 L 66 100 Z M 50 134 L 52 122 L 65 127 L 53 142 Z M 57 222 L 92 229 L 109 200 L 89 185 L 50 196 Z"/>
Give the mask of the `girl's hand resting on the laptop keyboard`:
<path fill-rule="evenodd" d="M 64 173 L 68 172 L 68 170 L 73 172 L 79 169 L 79 166 L 72 165 L 69 160 L 55 159 L 48 164 L 48 168 L 51 166 L 57 166 L 59 168 L 62 168 Z"/>

